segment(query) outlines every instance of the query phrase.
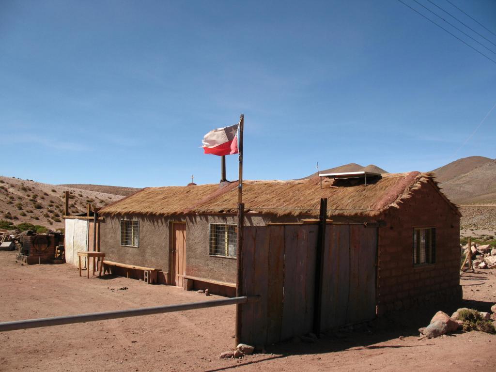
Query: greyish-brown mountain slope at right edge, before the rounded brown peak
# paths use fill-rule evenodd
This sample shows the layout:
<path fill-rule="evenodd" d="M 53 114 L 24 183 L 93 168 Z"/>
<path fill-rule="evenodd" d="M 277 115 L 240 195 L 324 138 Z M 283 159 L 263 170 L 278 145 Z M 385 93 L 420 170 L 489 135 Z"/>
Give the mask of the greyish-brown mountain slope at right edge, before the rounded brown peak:
<path fill-rule="evenodd" d="M 496 160 L 490 159 L 440 186 L 446 196 L 458 204 L 496 203 Z"/>

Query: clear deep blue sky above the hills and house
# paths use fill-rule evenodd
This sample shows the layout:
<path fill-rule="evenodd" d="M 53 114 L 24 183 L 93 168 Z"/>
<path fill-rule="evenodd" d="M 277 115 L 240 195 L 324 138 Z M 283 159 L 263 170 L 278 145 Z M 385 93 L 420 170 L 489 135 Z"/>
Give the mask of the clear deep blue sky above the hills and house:
<path fill-rule="evenodd" d="M 495 1 L 451 2 L 496 33 Z M 201 139 L 241 113 L 245 179 L 428 171 L 496 157 L 496 109 L 459 149 L 495 103 L 496 64 L 397 0 L 0 1 L 4 176 L 215 183 Z"/>

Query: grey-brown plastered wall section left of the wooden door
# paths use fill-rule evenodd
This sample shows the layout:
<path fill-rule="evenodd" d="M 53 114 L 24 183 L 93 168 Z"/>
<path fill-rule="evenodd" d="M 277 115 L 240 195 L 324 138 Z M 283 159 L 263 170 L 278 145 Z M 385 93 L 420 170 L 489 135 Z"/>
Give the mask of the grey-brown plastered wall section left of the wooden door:
<path fill-rule="evenodd" d="M 162 270 L 159 282 L 164 283 L 169 272 L 170 221 L 184 221 L 181 217 L 125 216 L 139 220 L 139 247 L 121 246 L 121 217 L 105 217 L 100 223 L 100 251 L 105 259 Z"/>

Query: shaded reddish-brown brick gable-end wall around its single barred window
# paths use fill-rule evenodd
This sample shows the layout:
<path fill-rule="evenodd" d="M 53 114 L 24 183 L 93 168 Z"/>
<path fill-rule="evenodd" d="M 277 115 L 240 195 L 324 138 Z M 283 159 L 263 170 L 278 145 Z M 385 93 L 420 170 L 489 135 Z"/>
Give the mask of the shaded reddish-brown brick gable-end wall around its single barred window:
<path fill-rule="evenodd" d="M 459 300 L 460 218 L 434 186 L 422 185 L 382 218 L 387 226 L 378 233 L 378 314 L 431 299 Z M 434 264 L 413 266 L 414 227 L 436 228 Z"/>

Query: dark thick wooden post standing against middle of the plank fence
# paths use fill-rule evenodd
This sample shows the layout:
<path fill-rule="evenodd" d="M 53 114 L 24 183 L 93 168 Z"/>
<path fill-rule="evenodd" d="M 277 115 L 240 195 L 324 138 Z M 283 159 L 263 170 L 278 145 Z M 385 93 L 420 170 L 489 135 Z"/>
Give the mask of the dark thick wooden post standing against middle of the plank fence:
<path fill-rule="evenodd" d="M 324 246 L 325 229 L 327 225 L 327 198 L 320 199 L 320 213 L 318 216 L 317 249 L 315 263 L 315 286 L 313 299 L 313 333 L 319 337 L 320 318 L 322 315 L 322 282 L 324 277 Z"/>

